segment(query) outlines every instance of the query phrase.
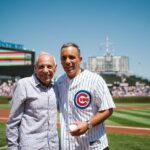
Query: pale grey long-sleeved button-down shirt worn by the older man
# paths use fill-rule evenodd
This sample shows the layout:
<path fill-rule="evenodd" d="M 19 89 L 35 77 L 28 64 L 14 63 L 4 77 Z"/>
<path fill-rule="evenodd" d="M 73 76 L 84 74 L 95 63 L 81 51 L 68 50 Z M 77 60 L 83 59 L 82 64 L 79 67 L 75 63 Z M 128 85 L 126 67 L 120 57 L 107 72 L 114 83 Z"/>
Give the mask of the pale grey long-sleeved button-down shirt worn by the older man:
<path fill-rule="evenodd" d="M 9 150 L 58 150 L 55 87 L 35 75 L 18 81 L 7 122 Z"/>

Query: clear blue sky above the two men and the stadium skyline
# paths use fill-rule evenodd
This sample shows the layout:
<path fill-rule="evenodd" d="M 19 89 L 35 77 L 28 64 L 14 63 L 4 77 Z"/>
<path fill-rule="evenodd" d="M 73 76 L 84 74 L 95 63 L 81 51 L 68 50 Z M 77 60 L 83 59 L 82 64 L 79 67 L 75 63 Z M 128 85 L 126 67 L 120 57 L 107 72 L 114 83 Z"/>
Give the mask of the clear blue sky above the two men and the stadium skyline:
<path fill-rule="evenodd" d="M 77 43 L 87 62 L 104 55 L 106 36 L 131 73 L 150 79 L 149 0 L 0 0 L 0 40 L 55 55 L 58 75 L 62 44 Z"/>

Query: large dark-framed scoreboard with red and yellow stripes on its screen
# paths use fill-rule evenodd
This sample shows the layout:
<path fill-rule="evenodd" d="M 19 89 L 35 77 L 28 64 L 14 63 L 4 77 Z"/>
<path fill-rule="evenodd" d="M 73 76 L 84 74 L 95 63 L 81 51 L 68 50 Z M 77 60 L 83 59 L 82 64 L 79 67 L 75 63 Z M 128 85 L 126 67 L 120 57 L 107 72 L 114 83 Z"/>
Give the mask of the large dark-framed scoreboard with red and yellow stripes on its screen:
<path fill-rule="evenodd" d="M 33 73 L 35 52 L 0 46 L 0 75 L 26 77 Z"/>

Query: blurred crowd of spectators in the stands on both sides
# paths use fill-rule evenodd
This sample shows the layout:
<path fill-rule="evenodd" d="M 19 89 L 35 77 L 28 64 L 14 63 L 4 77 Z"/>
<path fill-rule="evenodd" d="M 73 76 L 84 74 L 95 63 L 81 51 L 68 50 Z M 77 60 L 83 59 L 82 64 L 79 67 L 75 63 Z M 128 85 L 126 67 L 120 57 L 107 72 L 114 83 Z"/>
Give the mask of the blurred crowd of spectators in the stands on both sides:
<path fill-rule="evenodd" d="M 0 96 L 12 96 L 16 81 L 8 80 L 0 83 Z M 110 88 L 112 96 L 150 96 L 150 86 L 136 83 L 135 86 L 129 86 L 128 83 L 114 84 Z"/>

